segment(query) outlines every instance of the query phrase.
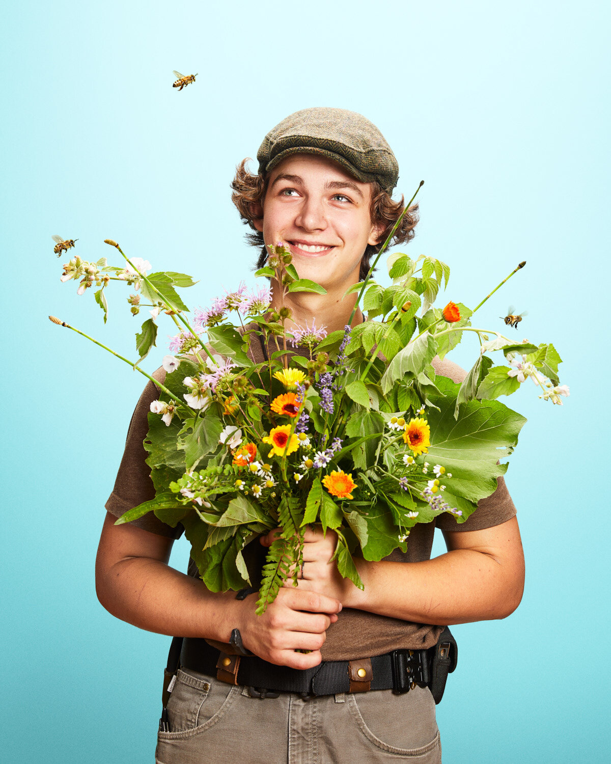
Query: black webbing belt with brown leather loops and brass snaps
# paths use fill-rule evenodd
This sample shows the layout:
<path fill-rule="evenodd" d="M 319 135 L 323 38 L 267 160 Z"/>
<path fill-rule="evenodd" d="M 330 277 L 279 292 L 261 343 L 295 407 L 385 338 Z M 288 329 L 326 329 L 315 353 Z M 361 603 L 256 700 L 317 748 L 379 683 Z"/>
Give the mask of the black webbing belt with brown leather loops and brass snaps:
<path fill-rule="evenodd" d="M 448 643 L 445 649 L 448 668 L 449 652 Z M 272 694 L 277 697 L 280 692 L 331 695 L 392 689 L 393 692 L 402 693 L 416 685 L 427 687 L 432 681 L 432 657 L 430 650 L 400 649 L 372 658 L 323 661 L 312 669 L 290 669 L 257 656 L 221 652 L 205 639 L 189 637 L 183 640 L 180 664 L 186 669 L 216 677 L 232 685 L 246 685 L 251 688 L 251 694 L 269 698 Z"/>

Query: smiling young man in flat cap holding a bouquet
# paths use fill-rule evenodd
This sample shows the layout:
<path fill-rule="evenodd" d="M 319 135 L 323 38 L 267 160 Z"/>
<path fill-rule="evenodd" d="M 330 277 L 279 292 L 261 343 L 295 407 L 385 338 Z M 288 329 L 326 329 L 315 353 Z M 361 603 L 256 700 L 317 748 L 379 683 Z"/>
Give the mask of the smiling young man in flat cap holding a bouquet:
<path fill-rule="evenodd" d="M 402 211 L 402 202 L 390 198 L 398 177 L 393 152 L 380 131 L 354 112 L 305 109 L 273 128 L 257 157 L 257 176 L 242 163 L 233 184 L 236 206 L 257 231 L 254 242 L 282 241 L 299 275 L 327 290 L 324 296 L 290 293 L 293 322 L 315 318 L 329 332 L 342 329 L 355 299 L 342 296 L 367 272 L 369 257 Z M 412 237 L 415 220 L 414 208 L 396 241 Z M 363 320 L 357 310 L 353 325 Z M 253 342 L 254 360 L 263 360 L 266 351 Z M 450 361 L 437 360 L 435 367 L 454 380 L 464 376 Z M 163 370 L 156 378 L 163 379 Z M 357 560 L 364 591 L 330 562 L 335 534 L 324 538 L 309 530 L 298 588 L 280 591 L 258 617 L 256 596 L 213 594 L 194 565 L 189 575 L 170 568 L 177 534 L 154 516 L 114 525 L 117 516 L 153 495 L 142 441 L 156 397 L 150 383 L 134 411 L 106 503 L 96 582 L 100 602 L 116 617 L 186 637 L 167 707 L 170 730 L 159 733 L 157 762 L 220 762 L 227 756 L 253 764 L 402 756 L 440 762 L 431 692 L 416 685 L 395 694 L 380 667 L 390 665 L 397 649 L 434 646 L 447 624 L 503 618 L 518 606 L 522 546 L 503 479 L 466 523 L 438 518 L 445 555 L 430 559 L 430 523 L 412 529 L 405 555 L 396 550 L 381 562 Z M 270 536 L 247 548 L 255 579 Z M 205 640 L 227 644 L 236 628 L 244 649 L 257 657 L 241 658 L 232 675 L 231 665 L 225 671 L 221 654 Z M 267 685 L 228 683 L 247 676 L 249 665 L 270 677 Z M 344 675 L 353 671 L 348 684 Z M 323 675 L 330 677 L 325 686 L 316 678 Z"/>

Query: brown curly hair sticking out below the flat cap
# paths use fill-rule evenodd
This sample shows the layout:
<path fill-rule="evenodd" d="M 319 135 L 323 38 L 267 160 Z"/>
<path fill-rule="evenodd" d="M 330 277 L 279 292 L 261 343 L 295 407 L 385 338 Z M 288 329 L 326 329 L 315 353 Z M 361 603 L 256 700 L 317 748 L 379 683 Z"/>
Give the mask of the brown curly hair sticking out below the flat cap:
<path fill-rule="evenodd" d="M 267 191 L 267 174 L 264 175 L 252 175 L 246 169 L 246 163 L 249 159 L 244 159 L 235 168 L 235 177 L 231 182 L 231 201 L 238 208 L 242 222 L 253 229 L 254 234 L 247 234 L 246 238 L 254 247 L 260 247 L 261 251 L 257 259 L 257 268 L 262 268 L 267 261 L 267 250 L 265 248 L 265 242 L 263 241 L 263 234 L 253 225 L 254 220 L 260 220 L 254 215 L 254 209 L 263 207 L 263 198 Z M 373 182 L 371 185 L 371 202 L 370 202 L 370 216 L 371 222 L 375 225 L 382 227 L 382 234 L 380 235 L 380 243 L 373 245 L 367 244 L 365 248 L 363 259 L 360 261 L 359 280 L 363 281 L 367 277 L 367 273 L 370 268 L 370 260 L 374 254 L 380 251 L 380 247 L 386 241 L 386 237 L 393 229 L 399 215 L 404 209 L 404 200 L 401 196 L 399 202 L 393 202 L 390 193 L 385 191 L 380 183 Z M 418 217 L 418 205 L 412 204 L 393 235 L 389 246 L 394 244 L 403 244 L 406 241 L 411 241 L 415 236 L 415 225 L 419 220 Z"/>

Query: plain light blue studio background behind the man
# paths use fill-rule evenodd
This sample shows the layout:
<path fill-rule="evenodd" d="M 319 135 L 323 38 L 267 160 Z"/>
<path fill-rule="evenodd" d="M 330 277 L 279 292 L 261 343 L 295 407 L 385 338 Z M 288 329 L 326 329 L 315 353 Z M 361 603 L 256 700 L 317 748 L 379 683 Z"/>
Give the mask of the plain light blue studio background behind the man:
<path fill-rule="evenodd" d="M 473 306 L 528 262 L 478 324 L 501 329 L 509 303 L 528 310 L 516 336 L 553 341 L 571 386 L 564 407 L 532 384 L 507 401 L 529 417 L 507 477 L 525 594 L 506 620 L 454 629 L 444 762 L 607 760 L 607 8 L 29 0 L 5 11 L 6 761 L 151 762 L 170 641 L 95 597 L 103 504 L 144 379 L 47 314 L 128 357 L 139 322 L 115 285 L 104 326 L 92 293 L 60 283 L 66 257 L 50 236 L 79 238 L 91 260 L 112 258 L 102 241 L 115 238 L 201 279 L 185 295 L 205 304 L 256 254 L 229 199 L 235 163 L 312 105 L 374 121 L 407 198 L 425 179 L 407 251 L 451 264 L 444 299 Z M 196 84 L 176 92 L 173 69 L 198 72 Z M 476 351 L 467 341 L 454 360 Z M 184 570 L 187 555 L 179 542 L 172 564 Z"/>

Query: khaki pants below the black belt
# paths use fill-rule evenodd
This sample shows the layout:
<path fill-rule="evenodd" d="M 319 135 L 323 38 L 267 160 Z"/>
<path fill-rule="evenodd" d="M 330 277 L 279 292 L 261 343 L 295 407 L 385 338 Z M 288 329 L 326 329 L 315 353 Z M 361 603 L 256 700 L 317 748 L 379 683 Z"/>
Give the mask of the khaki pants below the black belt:
<path fill-rule="evenodd" d="M 184 670 L 167 711 L 172 731 L 158 733 L 157 764 L 441 762 L 435 702 L 419 687 L 262 700 Z"/>

